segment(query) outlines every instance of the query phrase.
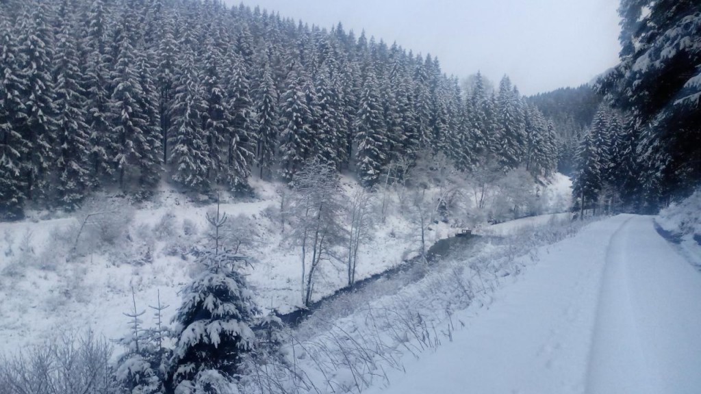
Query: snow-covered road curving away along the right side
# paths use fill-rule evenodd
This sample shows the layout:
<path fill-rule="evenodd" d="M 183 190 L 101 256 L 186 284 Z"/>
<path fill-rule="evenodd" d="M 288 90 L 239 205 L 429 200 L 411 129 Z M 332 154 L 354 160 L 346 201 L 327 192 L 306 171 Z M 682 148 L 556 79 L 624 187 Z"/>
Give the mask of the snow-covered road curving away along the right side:
<path fill-rule="evenodd" d="M 541 250 L 454 341 L 371 393 L 701 393 L 701 273 L 652 217 Z"/>

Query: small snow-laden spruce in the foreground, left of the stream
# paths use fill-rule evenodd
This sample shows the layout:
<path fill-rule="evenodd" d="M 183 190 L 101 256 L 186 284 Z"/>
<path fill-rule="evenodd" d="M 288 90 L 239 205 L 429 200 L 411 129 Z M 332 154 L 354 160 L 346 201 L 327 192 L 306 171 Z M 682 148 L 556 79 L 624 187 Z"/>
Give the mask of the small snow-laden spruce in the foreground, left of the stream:
<path fill-rule="evenodd" d="M 175 393 L 233 392 L 240 355 L 255 341 L 250 324 L 259 312 L 240 273 L 245 258 L 219 245 L 226 215 L 218 207 L 207 220 L 217 232 L 215 247 L 199 252 L 203 271 L 182 291 L 173 318 L 177 343 L 166 386 Z"/>

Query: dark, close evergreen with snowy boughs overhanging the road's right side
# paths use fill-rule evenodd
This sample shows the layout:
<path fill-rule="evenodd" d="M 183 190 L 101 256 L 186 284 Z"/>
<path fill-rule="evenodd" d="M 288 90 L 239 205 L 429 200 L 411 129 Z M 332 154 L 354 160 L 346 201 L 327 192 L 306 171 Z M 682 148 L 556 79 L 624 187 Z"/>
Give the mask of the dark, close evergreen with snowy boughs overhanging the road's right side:
<path fill-rule="evenodd" d="M 651 210 L 701 181 L 701 9 L 694 0 L 622 0 L 620 64 L 599 82 L 641 127 L 639 182 Z"/>

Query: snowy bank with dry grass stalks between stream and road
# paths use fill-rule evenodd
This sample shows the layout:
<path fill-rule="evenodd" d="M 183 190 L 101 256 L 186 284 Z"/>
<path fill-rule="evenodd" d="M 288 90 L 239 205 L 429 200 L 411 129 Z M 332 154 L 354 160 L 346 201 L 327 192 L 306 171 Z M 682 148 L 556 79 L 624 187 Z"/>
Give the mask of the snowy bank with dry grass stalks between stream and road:
<path fill-rule="evenodd" d="M 283 332 L 282 360 L 250 358 L 242 391 L 358 393 L 386 384 L 386 372 L 402 370 L 403 358 L 421 357 L 470 326 L 453 318 L 454 312 L 478 315 L 498 287 L 517 280 L 548 245 L 573 236 L 584 224 L 552 219 L 501 240 L 485 238 L 453 259 L 418 264 L 344 294 Z"/>

